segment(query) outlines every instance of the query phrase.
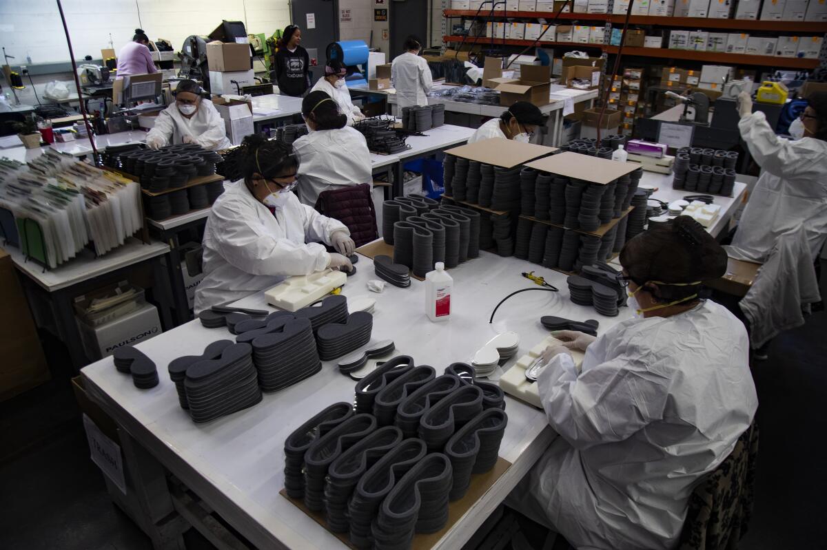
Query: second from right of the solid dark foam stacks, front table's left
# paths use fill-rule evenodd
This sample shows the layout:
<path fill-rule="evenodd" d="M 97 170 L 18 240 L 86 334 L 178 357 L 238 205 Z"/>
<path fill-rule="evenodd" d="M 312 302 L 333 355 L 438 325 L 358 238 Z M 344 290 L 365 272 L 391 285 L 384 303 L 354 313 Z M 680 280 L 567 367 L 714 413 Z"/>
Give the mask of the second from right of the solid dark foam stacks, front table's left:
<path fill-rule="evenodd" d="M 370 314 L 366 314 L 370 315 Z M 337 325 L 325 325 L 325 327 Z M 307 319 L 290 319 L 278 332 L 252 341 L 253 358 L 262 391 L 279 391 L 322 370 L 313 329 Z"/>

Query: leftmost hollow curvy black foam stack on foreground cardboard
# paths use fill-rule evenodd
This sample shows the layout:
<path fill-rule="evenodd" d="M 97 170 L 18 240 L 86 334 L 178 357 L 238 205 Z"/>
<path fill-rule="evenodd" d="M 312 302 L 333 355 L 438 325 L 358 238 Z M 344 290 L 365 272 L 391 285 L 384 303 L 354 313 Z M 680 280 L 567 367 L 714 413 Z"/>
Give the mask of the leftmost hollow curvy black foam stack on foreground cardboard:
<path fill-rule="evenodd" d="M 353 415 L 350 403 L 334 403 L 295 429 L 284 440 L 284 490 L 304 499 L 304 453 L 317 440 Z"/>

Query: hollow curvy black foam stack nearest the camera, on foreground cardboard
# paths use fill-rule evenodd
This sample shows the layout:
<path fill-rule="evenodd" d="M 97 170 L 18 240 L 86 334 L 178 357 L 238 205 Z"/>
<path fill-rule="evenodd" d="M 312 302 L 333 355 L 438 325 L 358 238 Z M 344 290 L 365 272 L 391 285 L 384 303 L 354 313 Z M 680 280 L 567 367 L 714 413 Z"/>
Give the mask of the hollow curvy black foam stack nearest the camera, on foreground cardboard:
<path fill-rule="evenodd" d="M 451 461 L 431 453 L 412 467 L 380 506 L 371 526 L 376 550 L 410 548 L 414 533 L 436 533 L 448 521 Z"/>

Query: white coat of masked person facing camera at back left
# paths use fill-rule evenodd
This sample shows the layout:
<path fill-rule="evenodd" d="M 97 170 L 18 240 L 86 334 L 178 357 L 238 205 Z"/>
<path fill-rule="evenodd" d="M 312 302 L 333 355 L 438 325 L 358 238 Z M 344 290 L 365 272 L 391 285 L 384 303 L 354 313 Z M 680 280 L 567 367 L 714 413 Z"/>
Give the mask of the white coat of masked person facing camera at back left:
<path fill-rule="evenodd" d="M 149 131 L 146 139 L 160 137 L 163 140 L 161 147 L 164 147 L 184 143 L 184 135 L 192 136 L 194 142 L 204 149 L 218 151 L 232 147 L 230 140 L 227 140 L 224 119 L 208 99 L 201 99 L 198 111 L 195 111 L 192 118 L 181 115 L 174 103 L 160 111 L 155 117 L 155 127 Z"/>

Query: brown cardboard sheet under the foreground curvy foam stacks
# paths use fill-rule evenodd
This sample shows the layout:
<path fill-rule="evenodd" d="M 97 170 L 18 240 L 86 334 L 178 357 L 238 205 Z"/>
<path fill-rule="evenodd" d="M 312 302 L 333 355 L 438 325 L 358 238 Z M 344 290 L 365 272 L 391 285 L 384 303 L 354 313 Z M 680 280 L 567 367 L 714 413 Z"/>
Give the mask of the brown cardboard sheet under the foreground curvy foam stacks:
<path fill-rule="evenodd" d="M 428 550 L 429 548 L 436 546 L 437 542 L 439 542 L 439 540 L 444 537 L 448 531 L 453 529 L 454 525 L 468 513 L 468 510 L 471 510 L 471 506 L 473 506 L 477 500 L 480 500 L 480 498 L 482 498 L 482 496 L 485 495 L 485 493 L 488 492 L 492 486 L 494 486 L 495 482 L 502 477 L 509 467 L 511 467 L 511 462 L 499 457 L 497 458 L 497 462 L 494 467 L 488 472 L 482 474 L 471 474 L 471 486 L 468 487 L 468 491 L 466 491 L 465 496 L 463 496 L 460 500 L 448 503 L 448 521 L 447 524 L 445 524 L 445 527 L 436 533 L 415 534 L 414 541 L 411 543 L 411 549 Z M 302 510 L 305 514 L 308 514 L 308 516 L 313 518 L 317 524 L 321 525 L 324 529 L 327 529 L 327 522 L 324 520 L 323 513 L 308 510 L 308 507 L 304 505 L 302 500 L 291 499 L 284 489 L 279 491 L 279 494 L 289 500 L 296 508 Z M 346 544 L 347 548 L 356 548 L 351 545 L 351 541 L 350 538 L 348 538 L 347 533 L 331 532 L 331 534 L 338 538 L 343 544 Z"/>

